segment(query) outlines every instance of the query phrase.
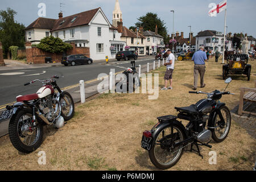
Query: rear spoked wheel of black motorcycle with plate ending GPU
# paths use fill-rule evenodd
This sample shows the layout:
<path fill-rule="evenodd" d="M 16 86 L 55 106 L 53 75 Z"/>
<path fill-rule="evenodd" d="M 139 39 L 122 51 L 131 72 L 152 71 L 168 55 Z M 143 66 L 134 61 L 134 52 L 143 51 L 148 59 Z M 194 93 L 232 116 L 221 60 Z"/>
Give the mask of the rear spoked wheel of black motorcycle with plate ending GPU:
<path fill-rule="evenodd" d="M 171 130 L 173 127 L 173 134 Z M 167 126 L 156 133 L 153 146 L 149 151 L 151 162 L 160 169 L 174 166 L 183 154 L 183 146 L 173 147 L 174 143 L 184 140 L 184 134 L 179 126 Z"/>

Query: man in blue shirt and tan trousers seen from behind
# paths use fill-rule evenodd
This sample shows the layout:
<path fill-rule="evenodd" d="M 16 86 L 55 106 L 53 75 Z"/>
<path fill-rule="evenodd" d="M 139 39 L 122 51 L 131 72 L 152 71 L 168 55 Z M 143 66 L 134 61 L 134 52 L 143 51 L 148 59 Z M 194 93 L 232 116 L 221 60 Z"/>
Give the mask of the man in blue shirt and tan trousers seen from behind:
<path fill-rule="evenodd" d="M 204 52 L 204 48 L 200 47 L 199 51 L 194 53 L 192 61 L 195 63 L 194 67 L 194 86 L 193 90 L 197 89 L 197 79 L 200 75 L 201 88 L 205 87 L 204 74 L 205 74 L 205 61 L 207 61 L 207 54 Z"/>

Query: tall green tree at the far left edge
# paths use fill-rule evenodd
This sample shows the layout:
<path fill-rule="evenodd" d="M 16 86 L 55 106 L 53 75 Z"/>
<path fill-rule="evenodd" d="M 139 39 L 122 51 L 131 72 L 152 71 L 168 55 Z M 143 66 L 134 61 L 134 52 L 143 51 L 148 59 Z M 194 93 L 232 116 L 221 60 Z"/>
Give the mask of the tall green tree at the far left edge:
<path fill-rule="evenodd" d="M 25 26 L 14 20 L 16 14 L 16 11 L 10 8 L 0 10 L 0 41 L 5 54 L 9 51 L 10 46 L 24 47 Z"/>

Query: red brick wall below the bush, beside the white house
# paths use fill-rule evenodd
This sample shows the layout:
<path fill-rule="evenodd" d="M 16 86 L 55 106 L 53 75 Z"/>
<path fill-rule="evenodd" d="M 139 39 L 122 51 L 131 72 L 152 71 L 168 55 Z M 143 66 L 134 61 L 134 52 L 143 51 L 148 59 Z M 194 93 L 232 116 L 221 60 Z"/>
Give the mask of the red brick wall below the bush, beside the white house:
<path fill-rule="evenodd" d="M 26 42 L 26 55 L 27 55 L 27 63 L 34 63 L 34 64 L 42 64 L 46 63 L 46 57 L 51 57 L 52 61 L 56 63 L 61 61 L 61 58 L 64 56 L 63 53 L 50 53 L 42 51 L 39 48 L 34 48 L 31 46 L 31 42 Z M 82 54 L 87 57 L 90 57 L 90 49 L 89 47 L 75 47 L 75 43 L 71 43 L 72 49 L 65 53 L 66 56 L 68 55 L 76 55 Z"/>

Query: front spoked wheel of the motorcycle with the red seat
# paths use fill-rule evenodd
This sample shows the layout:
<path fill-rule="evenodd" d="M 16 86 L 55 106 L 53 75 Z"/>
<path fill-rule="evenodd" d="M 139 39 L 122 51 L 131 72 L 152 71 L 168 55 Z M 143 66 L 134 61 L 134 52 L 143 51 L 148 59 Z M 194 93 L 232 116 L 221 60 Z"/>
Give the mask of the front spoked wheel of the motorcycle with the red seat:
<path fill-rule="evenodd" d="M 71 94 L 68 92 L 63 92 L 61 99 L 61 116 L 64 118 L 65 121 L 73 118 L 75 114 L 75 105 Z"/>

